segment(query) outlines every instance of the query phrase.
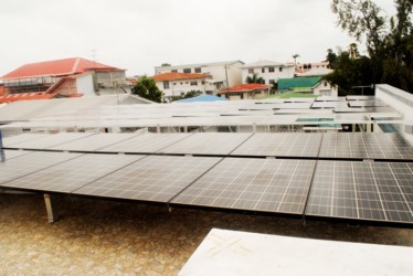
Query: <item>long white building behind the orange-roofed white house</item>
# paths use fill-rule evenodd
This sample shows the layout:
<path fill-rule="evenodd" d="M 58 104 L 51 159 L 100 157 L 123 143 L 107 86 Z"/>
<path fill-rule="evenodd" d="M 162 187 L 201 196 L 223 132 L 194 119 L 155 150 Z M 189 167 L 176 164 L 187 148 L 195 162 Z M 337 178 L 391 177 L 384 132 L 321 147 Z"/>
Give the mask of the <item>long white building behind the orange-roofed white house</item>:
<path fill-rule="evenodd" d="M 210 78 L 205 79 L 211 85 L 208 86 L 206 94 L 216 94 L 224 87 L 231 87 L 242 83 L 241 61 L 215 62 L 215 63 L 198 63 L 176 66 L 156 66 L 155 75 L 165 73 L 186 73 L 186 74 L 205 74 Z"/>

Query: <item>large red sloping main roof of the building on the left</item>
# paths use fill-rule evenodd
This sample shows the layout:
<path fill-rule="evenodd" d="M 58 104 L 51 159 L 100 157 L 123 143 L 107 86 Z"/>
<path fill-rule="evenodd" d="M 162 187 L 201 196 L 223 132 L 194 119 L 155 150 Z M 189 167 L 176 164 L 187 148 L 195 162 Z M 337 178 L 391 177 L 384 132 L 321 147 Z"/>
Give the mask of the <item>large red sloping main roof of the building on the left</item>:
<path fill-rule="evenodd" d="M 82 74 L 88 71 L 124 71 L 89 60 L 73 57 L 47 62 L 25 64 L 2 76 L 2 79 L 23 78 L 33 76 L 62 76 Z"/>

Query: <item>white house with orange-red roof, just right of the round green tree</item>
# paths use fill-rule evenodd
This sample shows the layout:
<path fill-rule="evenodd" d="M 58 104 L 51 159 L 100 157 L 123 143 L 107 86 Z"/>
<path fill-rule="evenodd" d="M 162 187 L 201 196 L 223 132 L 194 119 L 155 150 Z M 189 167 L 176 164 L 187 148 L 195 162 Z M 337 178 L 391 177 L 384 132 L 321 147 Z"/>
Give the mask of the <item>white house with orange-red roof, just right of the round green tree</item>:
<path fill-rule="evenodd" d="M 210 94 L 212 84 L 206 82 L 210 75 L 199 73 L 163 73 L 152 77 L 160 91 L 163 92 L 165 99 L 172 96 L 183 96 L 190 91 L 200 91 L 202 94 Z"/>

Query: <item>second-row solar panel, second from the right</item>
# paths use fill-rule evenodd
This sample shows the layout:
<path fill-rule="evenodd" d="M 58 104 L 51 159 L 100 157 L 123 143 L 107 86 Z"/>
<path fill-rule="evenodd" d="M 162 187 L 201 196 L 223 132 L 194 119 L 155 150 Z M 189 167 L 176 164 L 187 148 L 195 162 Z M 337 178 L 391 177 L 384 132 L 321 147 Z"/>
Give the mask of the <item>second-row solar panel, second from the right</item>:
<path fill-rule="evenodd" d="M 322 134 L 255 134 L 232 156 L 317 157 Z"/>

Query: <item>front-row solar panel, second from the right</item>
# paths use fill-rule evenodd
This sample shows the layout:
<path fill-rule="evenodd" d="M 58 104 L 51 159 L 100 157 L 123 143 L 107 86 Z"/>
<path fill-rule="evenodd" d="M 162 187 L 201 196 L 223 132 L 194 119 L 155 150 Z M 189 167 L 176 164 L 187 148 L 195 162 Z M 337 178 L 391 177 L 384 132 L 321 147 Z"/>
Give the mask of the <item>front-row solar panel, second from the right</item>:
<path fill-rule="evenodd" d="M 227 158 L 171 203 L 303 214 L 315 163 Z"/>

